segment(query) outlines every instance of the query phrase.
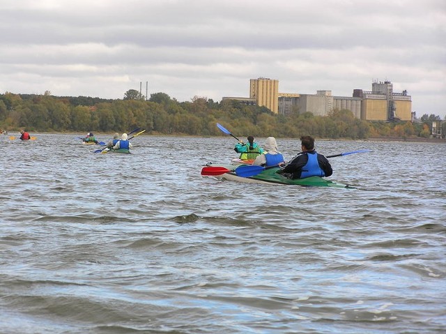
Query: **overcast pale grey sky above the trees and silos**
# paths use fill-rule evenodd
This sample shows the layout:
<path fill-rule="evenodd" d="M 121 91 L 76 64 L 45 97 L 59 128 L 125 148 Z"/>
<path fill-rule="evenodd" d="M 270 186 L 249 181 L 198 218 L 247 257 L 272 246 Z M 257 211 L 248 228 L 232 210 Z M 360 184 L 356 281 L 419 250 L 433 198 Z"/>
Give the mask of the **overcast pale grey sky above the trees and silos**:
<path fill-rule="evenodd" d="M 220 102 L 249 79 L 352 96 L 390 81 L 446 116 L 444 0 L 0 0 L 0 93 Z M 141 86 L 140 86 L 141 85 Z"/>

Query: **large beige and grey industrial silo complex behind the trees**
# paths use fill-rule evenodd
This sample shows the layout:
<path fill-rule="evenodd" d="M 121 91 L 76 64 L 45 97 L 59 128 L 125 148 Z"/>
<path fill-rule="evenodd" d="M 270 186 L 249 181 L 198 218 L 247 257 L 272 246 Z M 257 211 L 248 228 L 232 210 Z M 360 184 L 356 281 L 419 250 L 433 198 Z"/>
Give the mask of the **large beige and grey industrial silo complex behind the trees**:
<path fill-rule="evenodd" d="M 394 93 L 392 82 L 373 82 L 371 91 L 353 89 L 353 96 L 332 96 L 332 91 L 316 94 L 279 93 L 279 80 L 259 77 L 249 80 L 249 98 L 224 97 L 223 100 L 259 105 L 275 114 L 311 112 L 326 116 L 334 109 L 348 109 L 357 119 L 365 121 L 410 121 L 412 98 L 407 91 Z"/>

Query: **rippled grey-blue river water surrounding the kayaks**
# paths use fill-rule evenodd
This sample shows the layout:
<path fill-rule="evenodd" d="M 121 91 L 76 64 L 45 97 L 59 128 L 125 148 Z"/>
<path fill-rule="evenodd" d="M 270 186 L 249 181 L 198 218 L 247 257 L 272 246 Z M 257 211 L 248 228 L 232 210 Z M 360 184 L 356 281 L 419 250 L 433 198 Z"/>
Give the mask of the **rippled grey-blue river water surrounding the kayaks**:
<path fill-rule="evenodd" d="M 445 333 L 445 144 L 317 141 L 373 150 L 339 189 L 202 177 L 229 136 L 31 135 L 0 137 L 0 333 Z"/>

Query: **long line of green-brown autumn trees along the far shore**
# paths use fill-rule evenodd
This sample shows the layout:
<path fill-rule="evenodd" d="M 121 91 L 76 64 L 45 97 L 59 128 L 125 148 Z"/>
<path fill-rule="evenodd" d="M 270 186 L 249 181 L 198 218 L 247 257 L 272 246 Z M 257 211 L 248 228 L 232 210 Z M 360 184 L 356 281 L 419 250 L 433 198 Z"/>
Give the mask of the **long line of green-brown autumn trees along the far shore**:
<path fill-rule="evenodd" d="M 274 114 L 266 107 L 244 105 L 236 100 L 194 96 L 178 102 L 166 93 L 153 93 L 147 100 L 130 89 L 124 98 L 57 97 L 49 91 L 36 94 L 0 94 L 0 129 L 30 132 L 125 132 L 144 128 L 152 135 L 220 136 L 215 126 L 238 135 L 254 137 L 367 139 L 369 137 L 429 137 L 436 115 L 423 115 L 419 123 L 370 122 L 356 119 L 349 110 L 328 116 L 293 111 L 289 116 Z M 446 126 L 446 122 L 443 127 Z M 443 128 L 446 133 L 446 128 Z"/>

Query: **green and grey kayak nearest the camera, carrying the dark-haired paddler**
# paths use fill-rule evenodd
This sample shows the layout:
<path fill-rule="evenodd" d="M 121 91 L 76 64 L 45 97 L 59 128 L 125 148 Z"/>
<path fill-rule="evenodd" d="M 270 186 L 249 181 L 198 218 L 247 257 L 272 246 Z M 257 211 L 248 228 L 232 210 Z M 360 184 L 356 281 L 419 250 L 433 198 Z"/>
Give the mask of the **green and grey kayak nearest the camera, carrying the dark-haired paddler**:
<path fill-rule="evenodd" d="M 288 179 L 282 174 L 278 174 L 279 167 L 272 167 L 263 169 L 262 172 L 254 176 L 242 177 L 236 174 L 236 168 L 243 165 L 213 165 L 211 163 L 206 164 L 207 167 L 223 167 L 229 169 L 229 172 L 213 175 L 216 179 L 227 181 L 238 181 L 243 183 L 269 183 L 269 184 L 282 184 L 282 185 L 302 185 L 305 187 L 333 187 L 333 188 L 354 188 L 344 183 L 338 183 L 324 179 L 319 176 L 310 176 L 305 179 Z"/>

